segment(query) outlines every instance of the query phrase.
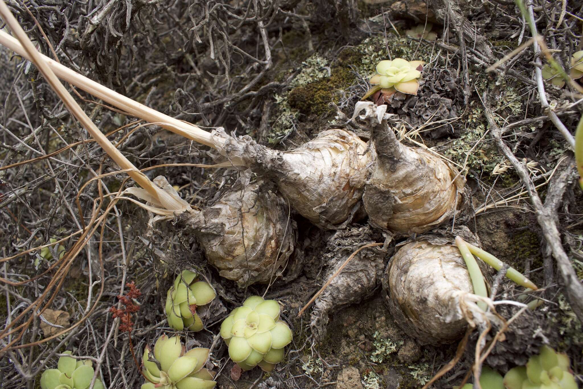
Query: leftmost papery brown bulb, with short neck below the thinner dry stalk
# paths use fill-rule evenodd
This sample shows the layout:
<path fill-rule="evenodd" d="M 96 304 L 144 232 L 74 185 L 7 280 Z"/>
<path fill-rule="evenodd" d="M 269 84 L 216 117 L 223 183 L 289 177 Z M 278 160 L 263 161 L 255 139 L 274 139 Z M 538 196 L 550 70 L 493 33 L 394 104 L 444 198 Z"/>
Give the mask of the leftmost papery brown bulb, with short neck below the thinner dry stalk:
<path fill-rule="evenodd" d="M 269 282 L 282 272 L 296 243 L 285 199 L 259 184 L 227 192 L 216 204 L 178 216 L 210 264 L 240 286 Z"/>

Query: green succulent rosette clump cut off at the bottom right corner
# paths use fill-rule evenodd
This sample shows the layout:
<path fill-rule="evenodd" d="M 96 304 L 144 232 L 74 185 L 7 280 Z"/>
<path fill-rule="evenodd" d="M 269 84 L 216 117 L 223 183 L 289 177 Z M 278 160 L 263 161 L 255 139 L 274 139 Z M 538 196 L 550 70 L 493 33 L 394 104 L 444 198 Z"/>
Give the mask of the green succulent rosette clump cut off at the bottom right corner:
<path fill-rule="evenodd" d="M 569 365 L 567 354 L 542 346 L 540 354 L 531 356 L 526 366 L 508 370 L 504 386 L 507 389 L 577 389 Z"/>

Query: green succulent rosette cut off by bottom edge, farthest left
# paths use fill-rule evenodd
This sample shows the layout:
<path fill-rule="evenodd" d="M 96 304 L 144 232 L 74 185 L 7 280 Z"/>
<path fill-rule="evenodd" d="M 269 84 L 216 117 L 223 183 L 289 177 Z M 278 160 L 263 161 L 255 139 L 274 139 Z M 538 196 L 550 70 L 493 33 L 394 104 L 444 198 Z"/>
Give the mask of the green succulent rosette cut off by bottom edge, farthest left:
<path fill-rule="evenodd" d="M 71 355 L 71 351 L 65 351 Z M 93 362 L 77 360 L 71 356 L 62 356 L 57 363 L 57 369 L 47 369 L 40 376 L 42 389 L 87 389 L 93 380 Z M 100 379 L 95 380 L 93 389 L 104 389 Z"/>

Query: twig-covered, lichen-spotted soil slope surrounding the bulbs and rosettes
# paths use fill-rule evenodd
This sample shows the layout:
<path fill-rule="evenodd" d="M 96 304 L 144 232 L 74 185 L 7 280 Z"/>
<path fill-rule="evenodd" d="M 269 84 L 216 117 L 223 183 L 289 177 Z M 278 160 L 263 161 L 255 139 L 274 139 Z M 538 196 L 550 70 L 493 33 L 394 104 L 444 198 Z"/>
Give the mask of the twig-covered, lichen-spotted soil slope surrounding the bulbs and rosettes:
<path fill-rule="evenodd" d="M 533 63 L 538 57 L 528 47 L 504 70 L 485 70 L 531 36 L 514 3 L 459 2 L 462 10 L 453 16 L 468 24 L 449 26 L 442 16 L 445 8 L 437 0 L 128 0 L 112 2 L 111 8 L 106 3 L 59 0 L 40 6 L 30 2 L 30 15 L 20 3 L 9 2 L 9 8 L 40 51 L 51 55 L 50 43 L 65 66 L 80 69 L 89 78 L 172 117 L 209 130 L 224 127 L 229 134 L 249 135 L 278 150 L 293 149 L 331 128 L 350 129 L 368 141 L 368 129 L 347 123 L 347 118 L 370 87 L 368 76 L 374 73 L 375 64 L 396 57 L 423 59 L 419 93 L 396 94 L 388 102 L 387 112 L 395 115 L 398 139 L 408 146 L 429 146 L 456 165 L 467 180 L 471 205 L 452 223 L 469 227 L 484 250 L 524 272 L 542 288 L 540 296 L 546 300 L 536 311 L 521 313 L 505 329 L 484 366 L 504 374 L 524 365 L 540 346 L 548 344 L 567 353 L 581 386 L 581 322 L 564 293 L 524 183 L 496 147 L 482 105 L 485 93 L 496 94 L 494 121 L 500 127 L 510 126 L 504 141 L 528 167 L 542 201 L 550 192 L 552 177 L 566 169 L 573 171 L 554 211 L 560 243 L 578 276 L 574 282 L 580 282 L 583 195 L 576 170 L 564 162 L 573 155 L 568 141 L 548 120 L 547 108 L 541 106 L 536 92 Z M 571 14 L 580 15 L 579 2 L 566 4 Z M 547 45 L 564 65 L 571 63 L 581 38 L 574 36 L 580 32 L 576 17 L 561 16 L 566 27 L 556 27 L 560 5 L 537 2 L 535 13 L 539 33 L 551 36 Z M 103 19 L 99 19 L 101 12 Z M 36 22 L 47 33 L 46 39 Z M 437 33 L 437 41 L 407 36 L 408 29 L 426 22 L 433 23 L 428 26 Z M 469 40 L 468 30 L 463 28 L 470 24 L 475 40 Z M 465 52 L 460 48 L 464 36 Z M 65 350 L 90 356 L 94 363 L 99 360 L 99 377 L 110 388 L 141 386 L 144 380 L 132 348 L 139 356 L 162 333 L 173 333 L 163 311 L 166 291 L 175 275 L 187 268 L 212 283 L 218 297 L 204 314 L 205 330 L 178 334 L 189 347 L 212 348 L 207 367 L 218 373 L 217 388 L 420 388 L 454 358 L 458 341 L 422 345 L 392 319 L 381 278 L 395 247 L 409 237 L 385 241 L 386 232 L 383 235 L 368 225 L 366 214 L 358 207 L 352 223 L 340 232 L 318 229 L 290 211 L 298 243 L 285 272 L 269 286 L 240 287 L 223 278 L 177 219 L 153 223 L 153 215 L 129 201 L 108 210 L 103 230 L 99 227 L 91 241 L 76 246 L 79 235 L 75 233 L 92 216 L 103 215 L 111 197 L 97 208 L 94 200 L 134 184 L 124 182 L 125 173 L 116 172 L 118 166 L 87 141 L 86 132 L 62 108 L 34 65 L 0 48 L 0 67 L 1 166 L 73 145 L 52 159 L 0 170 L 0 256 L 21 255 L 3 262 L 6 297 L 0 299 L 0 323 L 24 328 L 10 338 L 0 334 L 2 346 L 7 347 L 0 352 L 1 387 L 39 388 L 43 370 L 57 366 L 53 352 Z M 546 99 L 574 134 L 582 111 L 577 91 L 546 81 L 544 85 Z M 206 146 L 156 125 L 138 127 L 129 114 L 90 100 L 76 100 L 101 131 L 118 129 L 109 138 L 135 166 L 151 168 L 146 170 L 150 178 L 166 176 L 196 209 L 216 204 L 241 183 L 257 180 L 243 171 L 209 167 L 216 155 Z M 523 120 L 528 122 L 512 125 Z M 120 129 L 124 125 L 127 127 Z M 99 187 L 96 181 L 83 187 L 96 174 L 109 175 L 102 177 Z M 444 227 L 451 228 L 451 223 Z M 61 244 L 68 253 L 79 249 L 71 258 L 70 271 L 52 254 L 34 250 L 50 239 L 64 237 L 68 239 Z M 362 251 L 337 283 L 298 317 L 350 253 L 364 243 L 389 241 L 386 247 Z M 31 253 L 24 254 L 26 250 Z M 141 296 L 135 299 L 138 308 L 128 334 L 112 325 L 109 310 L 117 306 L 118 296 L 127 292 L 125 285 L 130 281 L 136 283 Z M 499 281 L 497 300 L 521 298 L 523 288 L 508 279 Z M 47 296 L 42 295 L 45 290 L 50 291 Z M 266 298 L 280 301 L 282 320 L 290 325 L 293 342 L 271 373 L 255 368 L 234 380 L 227 346 L 216 334 L 228 311 L 240 306 L 245 297 L 264 293 Z M 49 338 L 61 328 L 41 324 L 32 310 L 25 311 L 35 301 L 38 309 L 47 308 L 47 320 L 56 315 L 55 324 L 80 325 Z M 504 320 L 519 310 L 497 307 Z M 500 328 L 500 323 L 494 325 L 487 341 Z M 469 337 L 454 368 L 431 387 L 461 383 L 474 362 L 477 336 L 474 332 Z M 9 341 L 12 349 L 7 346 Z"/>

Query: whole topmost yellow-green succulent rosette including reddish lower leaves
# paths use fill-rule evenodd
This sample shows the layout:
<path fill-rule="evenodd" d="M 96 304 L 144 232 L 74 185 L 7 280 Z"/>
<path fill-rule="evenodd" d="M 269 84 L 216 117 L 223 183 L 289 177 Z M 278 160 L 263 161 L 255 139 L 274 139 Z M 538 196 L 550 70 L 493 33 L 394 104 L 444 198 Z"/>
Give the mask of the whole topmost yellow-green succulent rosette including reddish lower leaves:
<path fill-rule="evenodd" d="M 377 105 L 390 103 L 396 92 L 417 94 L 419 78 L 423 70 L 423 61 L 407 61 L 395 58 L 392 61 L 384 59 L 377 64 L 377 72 L 368 82 L 373 85 L 362 100 L 373 96 Z"/>

